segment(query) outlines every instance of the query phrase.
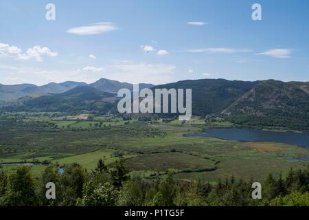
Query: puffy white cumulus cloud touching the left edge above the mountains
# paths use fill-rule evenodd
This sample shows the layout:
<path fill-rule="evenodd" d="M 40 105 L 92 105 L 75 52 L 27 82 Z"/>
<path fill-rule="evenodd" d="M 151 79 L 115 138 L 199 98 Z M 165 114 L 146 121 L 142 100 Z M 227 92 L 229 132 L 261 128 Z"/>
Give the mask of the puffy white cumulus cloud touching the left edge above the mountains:
<path fill-rule="evenodd" d="M 0 57 L 3 58 L 15 58 L 19 60 L 29 60 L 30 58 L 34 58 L 36 61 L 42 62 L 42 56 L 58 56 L 58 53 L 52 52 L 49 48 L 41 47 L 39 45 L 29 48 L 25 53 L 22 53 L 22 50 L 19 47 L 0 43 Z"/>

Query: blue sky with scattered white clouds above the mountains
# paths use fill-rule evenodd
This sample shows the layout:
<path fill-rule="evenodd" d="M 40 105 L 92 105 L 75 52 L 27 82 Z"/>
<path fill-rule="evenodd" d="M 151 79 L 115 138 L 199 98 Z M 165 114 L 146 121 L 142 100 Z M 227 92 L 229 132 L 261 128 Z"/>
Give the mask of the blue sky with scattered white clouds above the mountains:
<path fill-rule="evenodd" d="M 308 21 L 307 0 L 0 0 L 0 83 L 308 81 Z"/>

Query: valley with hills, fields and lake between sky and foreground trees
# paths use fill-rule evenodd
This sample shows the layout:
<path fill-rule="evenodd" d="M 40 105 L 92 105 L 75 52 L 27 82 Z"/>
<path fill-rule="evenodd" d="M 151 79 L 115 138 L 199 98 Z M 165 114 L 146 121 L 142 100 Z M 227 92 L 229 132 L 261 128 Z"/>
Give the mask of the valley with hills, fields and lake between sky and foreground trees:
<path fill-rule="evenodd" d="M 139 87 L 192 89 L 193 117 L 118 113 L 117 89 L 133 85 L 104 78 L 89 85 L 1 85 L 12 94 L 40 91 L 10 101 L 0 94 L 1 169 L 14 173 L 27 163 L 40 175 L 48 164 L 93 170 L 99 159 L 111 168 L 122 159 L 131 177 L 172 173 L 216 184 L 231 175 L 262 181 L 309 165 L 309 148 L 302 147 L 308 133 L 282 132 L 309 130 L 308 83 L 205 79 Z"/>

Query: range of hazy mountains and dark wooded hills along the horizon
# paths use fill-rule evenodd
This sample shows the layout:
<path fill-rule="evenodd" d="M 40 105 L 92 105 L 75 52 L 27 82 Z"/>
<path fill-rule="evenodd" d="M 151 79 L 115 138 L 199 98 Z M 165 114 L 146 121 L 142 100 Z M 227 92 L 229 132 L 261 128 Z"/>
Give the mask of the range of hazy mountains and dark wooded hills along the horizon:
<path fill-rule="evenodd" d="M 0 85 L 0 100 L 10 100 L 0 105 L 4 111 L 117 112 L 116 93 L 122 88 L 132 91 L 133 85 L 105 78 L 89 85 L 77 82 L 49 83 L 41 87 Z M 309 129 L 308 82 L 203 79 L 157 86 L 140 84 L 139 89 L 143 88 L 191 88 L 194 115 L 219 115 L 247 126 Z"/>

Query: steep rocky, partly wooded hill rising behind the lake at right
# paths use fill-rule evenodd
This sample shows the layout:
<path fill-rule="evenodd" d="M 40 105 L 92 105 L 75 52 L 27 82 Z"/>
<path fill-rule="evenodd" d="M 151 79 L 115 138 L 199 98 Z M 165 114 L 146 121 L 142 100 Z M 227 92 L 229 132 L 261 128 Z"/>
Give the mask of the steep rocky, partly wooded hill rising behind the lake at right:
<path fill-rule="evenodd" d="M 309 95 L 293 83 L 266 80 L 222 113 L 236 124 L 309 129 Z"/>

